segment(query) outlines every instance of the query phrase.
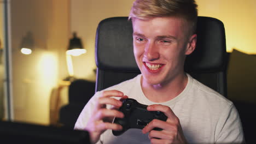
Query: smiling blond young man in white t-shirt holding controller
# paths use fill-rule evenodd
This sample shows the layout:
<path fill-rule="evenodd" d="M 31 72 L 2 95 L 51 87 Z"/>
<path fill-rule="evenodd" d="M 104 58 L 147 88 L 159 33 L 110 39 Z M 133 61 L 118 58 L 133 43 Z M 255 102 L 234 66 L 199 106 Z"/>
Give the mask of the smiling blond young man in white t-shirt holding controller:
<path fill-rule="evenodd" d="M 92 143 L 242 143 L 243 131 L 234 105 L 184 72 L 186 55 L 196 46 L 197 5 L 194 0 L 137 0 L 129 19 L 133 52 L 141 75 L 97 92 L 84 107 L 75 129 L 88 130 Z M 127 96 L 126 96 L 127 95 Z M 120 99 L 136 99 L 154 119 L 120 136 L 112 123 L 124 114 Z M 155 127 L 161 131 L 153 130 Z"/>

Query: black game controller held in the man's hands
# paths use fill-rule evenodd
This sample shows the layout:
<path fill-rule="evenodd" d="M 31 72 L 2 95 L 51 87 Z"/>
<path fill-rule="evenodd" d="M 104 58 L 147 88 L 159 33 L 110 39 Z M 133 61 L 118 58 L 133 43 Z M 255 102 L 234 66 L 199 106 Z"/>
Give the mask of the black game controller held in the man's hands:
<path fill-rule="evenodd" d="M 113 135 L 119 136 L 126 130 L 131 128 L 143 129 L 153 119 L 160 119 L 166 121 L 167 117 L 160 111 L 148 111 L 147 105 L 139 104 L 135 99 L 127 98 L 123 101 L 123 105 L 119 111 L 124 113 L 124 118 L 115 118 L 114 123 L 123 126 L 123 130 L 112 130 Z M 162 130 L 154 128 L 154 130 Z"/>

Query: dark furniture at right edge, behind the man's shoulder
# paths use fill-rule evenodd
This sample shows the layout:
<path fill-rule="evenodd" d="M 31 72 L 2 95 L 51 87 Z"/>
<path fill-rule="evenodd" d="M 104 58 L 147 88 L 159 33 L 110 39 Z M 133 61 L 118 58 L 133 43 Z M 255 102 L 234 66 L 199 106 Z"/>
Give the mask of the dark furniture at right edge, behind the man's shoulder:
<path fill-rule="evenodd" d="M 247 143 L 256 141 L 256 55 L 233 50 L 227 58 L 228 99 L 239 112 Z"/>

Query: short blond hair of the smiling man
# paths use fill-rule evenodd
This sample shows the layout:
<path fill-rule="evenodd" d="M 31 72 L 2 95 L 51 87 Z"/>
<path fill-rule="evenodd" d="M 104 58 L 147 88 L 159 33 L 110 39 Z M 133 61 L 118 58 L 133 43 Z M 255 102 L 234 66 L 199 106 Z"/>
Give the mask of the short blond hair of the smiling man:
<path fill-rule="evenodd" d="M 194 34 L 197 22 L 197 4 L 194 0 L 136 0 L 133 2 L 130 19 L 151 17 L 181 17 L 187 22 L 188 35 Z"/>

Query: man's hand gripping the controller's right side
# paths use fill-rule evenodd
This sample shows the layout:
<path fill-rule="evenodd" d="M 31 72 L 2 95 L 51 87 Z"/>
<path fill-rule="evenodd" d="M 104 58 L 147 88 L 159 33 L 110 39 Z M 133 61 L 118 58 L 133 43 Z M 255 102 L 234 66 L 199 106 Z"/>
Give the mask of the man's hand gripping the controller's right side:
<path fill-rule="evenodd" d="M 142 133 L 149 133 L 148 137 L 151 143 L 187 143 L 184 137 L 181 124 L 176 115 L 168 106 L 150 105 L 148 111 L 161 111 L 168 117 L 166 122 L 159 119 L 153 119 L 146 127 L 142 129 Z M 153 130 L 161 128 L 161 131 Z"/>

